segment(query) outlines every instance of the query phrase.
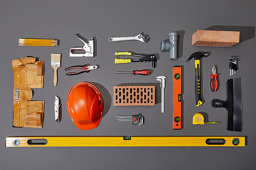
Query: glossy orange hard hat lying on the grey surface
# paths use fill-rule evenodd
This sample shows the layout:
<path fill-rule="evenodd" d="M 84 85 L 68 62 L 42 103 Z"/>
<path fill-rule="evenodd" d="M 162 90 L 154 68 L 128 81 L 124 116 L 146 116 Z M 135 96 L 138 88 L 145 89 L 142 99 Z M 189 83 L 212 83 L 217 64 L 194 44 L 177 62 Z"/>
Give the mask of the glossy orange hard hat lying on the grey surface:
<path fill-rule="evenodd" d="M 88 82 L 77 83 L 69 91 L 67 109 L 78 129 L 97 128 L 103 112 L 99 90 Z"/>

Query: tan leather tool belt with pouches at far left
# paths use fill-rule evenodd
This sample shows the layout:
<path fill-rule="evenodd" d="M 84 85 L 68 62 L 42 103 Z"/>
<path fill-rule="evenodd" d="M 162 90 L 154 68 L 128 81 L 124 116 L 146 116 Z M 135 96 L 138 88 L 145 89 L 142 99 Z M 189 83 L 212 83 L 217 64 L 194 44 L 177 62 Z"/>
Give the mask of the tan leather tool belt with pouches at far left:
<path fill-rule="evenodd" d="M 31 101 L 32 88 L 44 87 L 44 61 L 34 57 L 12 60 L 13 127 L 42 128 L 45 101 Z"/>

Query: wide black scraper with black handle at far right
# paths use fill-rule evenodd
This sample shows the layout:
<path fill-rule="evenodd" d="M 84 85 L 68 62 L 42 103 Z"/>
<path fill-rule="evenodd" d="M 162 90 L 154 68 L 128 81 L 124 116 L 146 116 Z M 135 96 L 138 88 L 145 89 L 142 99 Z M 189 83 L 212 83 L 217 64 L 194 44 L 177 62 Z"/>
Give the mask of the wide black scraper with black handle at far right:
<path fill-rule="evenodd" d="M 212 107 L 226 108 L 227 130 L 242 131 L 242 81 L 241 78 L 227 80 L 226 101 L 214 99 Z"/>

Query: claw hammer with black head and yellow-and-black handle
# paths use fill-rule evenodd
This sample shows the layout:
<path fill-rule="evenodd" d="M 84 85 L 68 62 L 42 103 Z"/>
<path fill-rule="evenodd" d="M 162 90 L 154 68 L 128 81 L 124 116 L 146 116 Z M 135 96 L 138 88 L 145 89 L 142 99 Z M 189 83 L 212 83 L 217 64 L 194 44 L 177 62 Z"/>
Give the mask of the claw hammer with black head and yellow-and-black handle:
<path fill-rule="evenodd" d="M 201 57 L 207 57 L 208 53 L 201 53 L 201 52 L 196 52 L 191 54 L 188 59 L 190 60 L 191 58 L 195 57 L 195 69 L 196 69 L 196 84 L 195 84 L 195 90 L 196 90 L 196 106 L 200 106 L 203 104 L 202 101 L 202 96 L 201 96 L 201 75 L 200 75 L 200 59 Z"/>

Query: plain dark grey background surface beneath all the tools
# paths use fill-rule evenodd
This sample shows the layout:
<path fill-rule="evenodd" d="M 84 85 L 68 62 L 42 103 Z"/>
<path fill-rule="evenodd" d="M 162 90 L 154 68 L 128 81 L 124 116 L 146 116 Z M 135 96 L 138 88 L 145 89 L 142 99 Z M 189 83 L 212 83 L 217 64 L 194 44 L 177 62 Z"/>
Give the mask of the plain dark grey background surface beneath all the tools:
<path fill-rule="evenodd" d="M 255 166 L 255 1 L 1 1 L 1 169 L 254 169 Z M 197 30 L 229 30 L 241 32 L 241 43 L 232 47 L 192 46 L 191 36 Z M 151 35 L 150 41 L 109 42 L 109 37 L 133 36 L 140 32 Z M 170 60 L 169 52 L 161 52 L 159 44 L 168 33 L 179 32 L 179 59 Z M 72 46 L 82 45 L 75 36 L 96 37 L 97 56 L 69 58 Z M 18 38 L 56 38 L 56 47 L 18 46 Z M 133 51 L 158 54 L 150 76 L 117 75 L 114 71 L 152 69 L 151 63 L 114 64 L 115 52 Z M 195 106 L 194 61 L 185 62 L 190 54 L 211 52 L 201 59 L 205 103 Z M 62 53 L 58 84 L 53 86 L 51 53 Z M 13 74 L 11 61 L 27 55 L 45 61 L 45 84 L 33 89 L 32 100 L 45 100 L 42 129 L 12 128 Z M 228 59 L 241 56 L 239 70 L 229 76 Z M 90 73 L 66 76 L 65 68 L 77 64 L 98 64 Z M 172 128 L 172 68 L 183 66 L 183 129 Z M 219 90 L 211 92 L 212 66 L 217 65 Z M 167 76 L 165 113 L 160 113 L 160 87 L 157 76 Z M 226 80 L 242 77 L 243 131 L 226 130 L 226 110 L 212 108 L 212 99 L 226 99 Z M 69 90 L 87 81 L 101 91 L 104 116 L 96 129 L 78 130 L 66 109 Z M 113 86 L 123 83 L 153 83 L 157 90 L 155 106 L 114 107 Z M 62 103 L 62 119 L 54 122 L 54 96 Z M 120 123 L 116 115 L 141 112 L 141 127 Z M 206 121 L 219 120 L 220 125 L 192 125 L 192 117 L 201 112 Z M 8 136 L 248 136 L 243 148 L 223 147 L 138 147 L 138 148 L 5 148 Z"/>

